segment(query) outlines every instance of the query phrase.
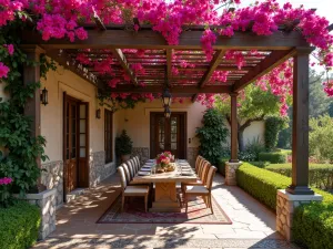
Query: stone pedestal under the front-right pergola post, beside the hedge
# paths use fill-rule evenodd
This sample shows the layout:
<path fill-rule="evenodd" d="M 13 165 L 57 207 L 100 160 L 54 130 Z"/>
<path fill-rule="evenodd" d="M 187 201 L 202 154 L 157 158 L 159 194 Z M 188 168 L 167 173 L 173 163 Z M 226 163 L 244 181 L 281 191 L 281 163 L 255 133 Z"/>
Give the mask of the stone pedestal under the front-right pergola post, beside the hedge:
<path fill-rule="evenodd" d="M 321 195 L 292 195 L 284 189 L 278 190 L 276 196 L 276 230 L 287 240 L 292 241 L 292 224 L 294 209 L 301 204 L 322 201 Z"/>

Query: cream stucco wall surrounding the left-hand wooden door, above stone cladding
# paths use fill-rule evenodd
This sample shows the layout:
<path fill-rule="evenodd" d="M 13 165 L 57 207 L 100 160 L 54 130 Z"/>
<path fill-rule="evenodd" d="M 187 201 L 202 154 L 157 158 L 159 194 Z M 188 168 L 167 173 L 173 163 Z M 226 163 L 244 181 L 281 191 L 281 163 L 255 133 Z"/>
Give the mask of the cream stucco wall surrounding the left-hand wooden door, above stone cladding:
<path fill-rule="evenodd" d="M 47 138 L 46 154 L 50 162 L 62 160 L 63 92 L 89 102 L 90 153 L 104 151 L 104 107 L 98 105 L 95 87 L 62 66 L 48 73 L 47 80 L 42 80 L 42 87 L 49 91 L 49 104 L 41 106 L 41 134 Z M 100 120 L 95 117 L 98 108 L 101 108 Z M 115 124 L 118 115 L 114 115 Z"/>

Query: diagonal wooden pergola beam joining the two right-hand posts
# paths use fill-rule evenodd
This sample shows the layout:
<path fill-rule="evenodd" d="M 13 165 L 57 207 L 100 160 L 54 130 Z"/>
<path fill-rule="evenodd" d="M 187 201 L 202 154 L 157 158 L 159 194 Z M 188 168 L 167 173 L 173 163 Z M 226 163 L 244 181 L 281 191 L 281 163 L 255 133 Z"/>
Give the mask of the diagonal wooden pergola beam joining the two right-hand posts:
<path fill-rule="evenodd" d="M 245 74 L 241 80 L 235 82 L 233 86 L 234 92 L 243 90 L 246 85 L 254 82 L 262 75 L 270 72 L 275 66 L 282 64 L 287 59 L 292 58 L 295 54 L 295 50 L 290 51 L 273 51 L 266 59 L 260 62 L 256 66 L 253 68 L 248 74 Z"/>

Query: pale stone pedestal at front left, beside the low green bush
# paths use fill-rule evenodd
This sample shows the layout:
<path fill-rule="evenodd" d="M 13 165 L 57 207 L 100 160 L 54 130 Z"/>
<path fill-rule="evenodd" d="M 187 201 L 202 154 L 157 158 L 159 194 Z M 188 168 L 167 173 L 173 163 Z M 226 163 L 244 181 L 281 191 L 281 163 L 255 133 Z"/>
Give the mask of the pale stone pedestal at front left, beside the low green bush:
<path fill-rule="evenodd" d="M 56 230 L 56 195 L 57 189 L 49 189 L 38 194 L 27 194 L 26 199 L 40 208 L 41 224 L 38 239 L 46 239 Z"/>

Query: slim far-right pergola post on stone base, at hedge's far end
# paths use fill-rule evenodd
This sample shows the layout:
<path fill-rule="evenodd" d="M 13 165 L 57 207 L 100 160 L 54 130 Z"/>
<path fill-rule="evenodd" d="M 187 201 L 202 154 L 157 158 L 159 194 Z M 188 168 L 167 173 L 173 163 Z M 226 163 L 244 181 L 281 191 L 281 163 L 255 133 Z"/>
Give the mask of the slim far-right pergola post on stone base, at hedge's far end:
<path fill-rule="evenodd" d="M 236 169 L 241 163 L 238 157 L 238 93 L 230 93 L 230 120 L 231 120 L 231 155 L 230 160 L 225 163 L 225 184 L 236 185 Z"/>

